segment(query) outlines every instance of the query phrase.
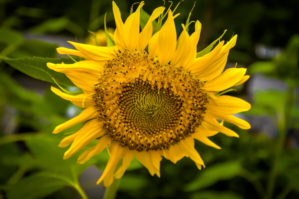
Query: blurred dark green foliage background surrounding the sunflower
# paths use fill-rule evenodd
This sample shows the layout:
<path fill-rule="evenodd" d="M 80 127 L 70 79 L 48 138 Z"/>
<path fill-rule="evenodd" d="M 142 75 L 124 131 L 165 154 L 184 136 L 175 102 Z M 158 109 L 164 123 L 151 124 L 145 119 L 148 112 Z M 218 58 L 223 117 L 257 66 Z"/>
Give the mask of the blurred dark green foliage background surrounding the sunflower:
<path fill-rule="evenodd" d="M 136 1 L 115 2 L 125 20 Z M 152 13 L 163 4 L 146 0 L 143 8 Z M 178 35 L 193 5 L 185 0 L 177 8 Z M 226 41 L 238 34 L 227 67 L 237 62 L 251 78 L 228 95 L 252 104 L 238 114 L 252 128 L 225 123 L 240 138 L 213 136 L 221 150 L 196 142 L 206 165 L 201 171 L 189 158 L 176 164 L 163 159 L 158 178 L 133 161 L 116 198 L 299 198 L 298 7 L 298 0 L 196 1 L 190 21 L 202 23 L 198 51 L 224 30 Z M 89 31 L 105 46 L 99 31 L 105 13 L 113 32 L 110 0 L 0 0 L 0 198 L 82 198 L 84 192 L 103 198 L 105 188 L 96 181 L 109 155 L 103 152 L 83 165 L 76 164 L 76 155 L 62 159 L 66 149 L 57 147 L 62 135 L 51 132 L 81 110 L 53 94 L 51 83 L 36 79 L 39 72 L 27 67 L 35 60 L 54 62 L 61 57 L 57 47 L 72 47 L 67 41 L 92 44 Z"/>

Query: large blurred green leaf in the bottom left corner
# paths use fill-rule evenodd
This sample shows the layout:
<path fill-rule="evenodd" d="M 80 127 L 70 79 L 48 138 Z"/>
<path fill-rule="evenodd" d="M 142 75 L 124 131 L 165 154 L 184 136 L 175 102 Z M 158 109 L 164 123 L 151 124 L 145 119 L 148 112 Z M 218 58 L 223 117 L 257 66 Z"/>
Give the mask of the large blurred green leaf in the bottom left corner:
<path fill-rule="evenodd" d="M 62 187 L 68 182 L 51 177 L 51 173 L 39 172 L 21 179 L 14 185 L 4 187 L 7 198 L 10 199 L 36 199 L 44 198 Z"/>

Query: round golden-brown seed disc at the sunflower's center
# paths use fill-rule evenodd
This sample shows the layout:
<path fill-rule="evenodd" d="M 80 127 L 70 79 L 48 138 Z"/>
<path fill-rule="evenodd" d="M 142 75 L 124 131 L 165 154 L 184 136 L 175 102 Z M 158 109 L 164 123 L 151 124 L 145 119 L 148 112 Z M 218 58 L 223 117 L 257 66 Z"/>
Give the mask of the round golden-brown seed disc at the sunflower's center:
<path fill-rule="evenodd" d="M 208 103 L 202 86 L 146 52 L 125 51 L 105 64 L 93 97 L 98 120 L 113 141 L 130 150 L 161 150 L 202 123 Z"/>

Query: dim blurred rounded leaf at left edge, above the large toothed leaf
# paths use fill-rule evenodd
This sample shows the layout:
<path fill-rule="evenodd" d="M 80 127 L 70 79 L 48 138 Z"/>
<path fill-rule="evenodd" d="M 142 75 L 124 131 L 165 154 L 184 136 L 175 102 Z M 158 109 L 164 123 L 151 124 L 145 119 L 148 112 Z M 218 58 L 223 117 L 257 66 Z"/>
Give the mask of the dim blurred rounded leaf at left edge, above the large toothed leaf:
<path fill-rule="evenodd" d="M 24 40 L 21 33 L 6 28 L 0 28 L 0 43 L 9 45 L 18 45 Z"/>

